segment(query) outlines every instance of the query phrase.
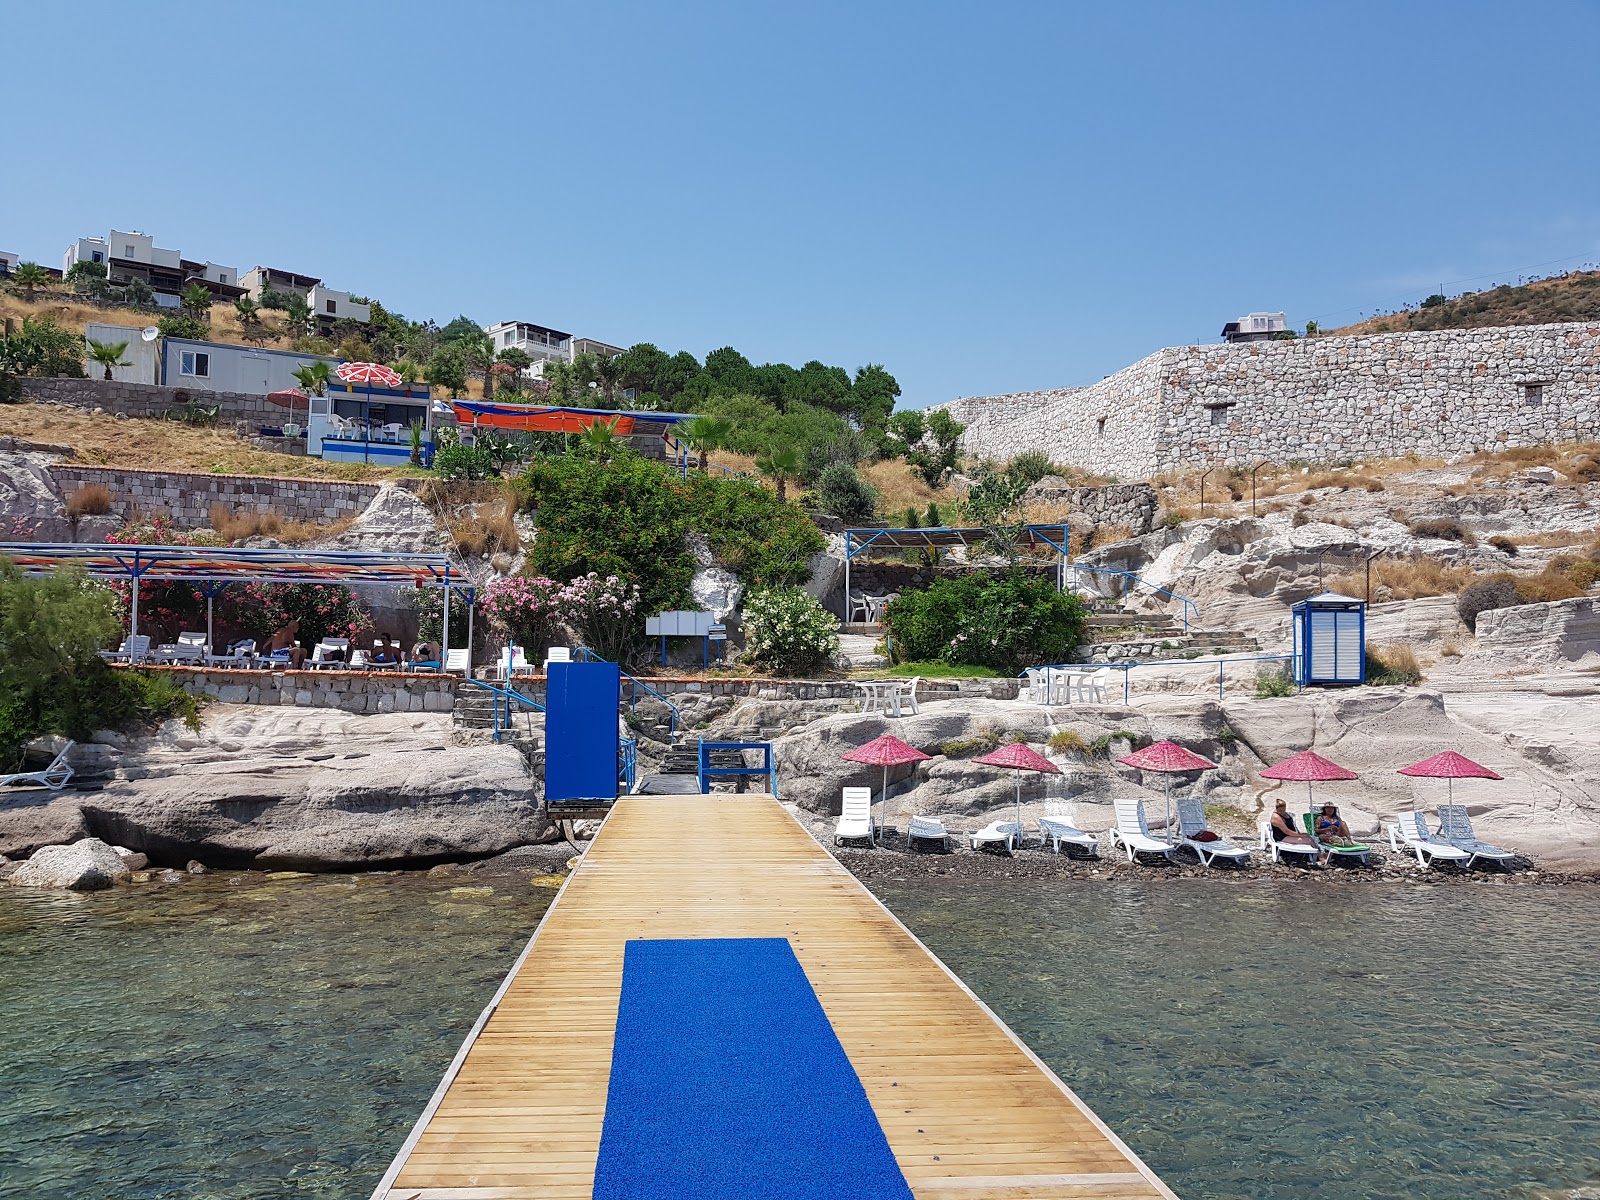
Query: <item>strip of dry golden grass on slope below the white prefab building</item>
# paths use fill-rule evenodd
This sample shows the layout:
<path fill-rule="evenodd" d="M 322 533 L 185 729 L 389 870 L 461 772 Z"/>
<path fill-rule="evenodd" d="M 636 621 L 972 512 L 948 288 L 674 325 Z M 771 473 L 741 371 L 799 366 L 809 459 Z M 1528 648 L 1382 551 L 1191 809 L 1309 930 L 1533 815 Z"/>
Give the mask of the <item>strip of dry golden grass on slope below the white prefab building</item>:
<path fill-rule="evenodd" d="M 258 450 L 230 429 L 139 418 L 118 421 L 54 405 L 0 405 L 0 435 L 69 445 L 78 462 L 98 467 L 368 482 L 421 474 L 419 467 L 323 462 L 302 454 L 275 454 Z"/>

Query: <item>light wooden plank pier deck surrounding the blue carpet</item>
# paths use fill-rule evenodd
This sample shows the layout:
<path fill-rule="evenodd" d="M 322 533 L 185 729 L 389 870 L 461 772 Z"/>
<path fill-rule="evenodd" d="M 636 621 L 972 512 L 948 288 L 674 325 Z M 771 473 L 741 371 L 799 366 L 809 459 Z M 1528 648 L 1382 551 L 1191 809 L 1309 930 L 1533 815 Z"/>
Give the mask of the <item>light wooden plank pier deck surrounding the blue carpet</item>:
<path fill-rule="evenodd" d="M 624 944 L 651 938 L 787 939 L 917 1200 L 1176 1200 L 765 795 L 616 803 L 374 1200 L 589 1197 Z"/>

